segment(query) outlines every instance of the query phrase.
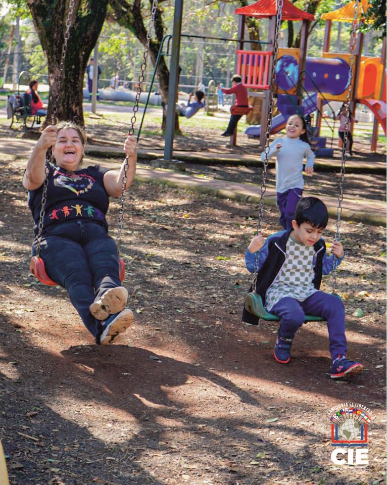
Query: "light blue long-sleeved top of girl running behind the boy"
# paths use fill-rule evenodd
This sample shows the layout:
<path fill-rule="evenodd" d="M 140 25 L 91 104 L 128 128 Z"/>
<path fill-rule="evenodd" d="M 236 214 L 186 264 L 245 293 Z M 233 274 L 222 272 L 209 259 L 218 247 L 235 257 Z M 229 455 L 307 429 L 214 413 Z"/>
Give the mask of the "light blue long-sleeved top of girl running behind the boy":
<path fill-rule="evenodd" d="M 276 192 L 285 192 L 289 188 L 303 188 L 303 160 L 307 159 L 306 168 L 314 167 L 315 161 L 310 145 L 299 138 L 276 138 L 269 146 L 268 159 L 276 153 L 277 143 L 281 143 L 281 149 L 276 155 Z M 263 152 L 261 160 L 264 162 L 264 159 Z"/>

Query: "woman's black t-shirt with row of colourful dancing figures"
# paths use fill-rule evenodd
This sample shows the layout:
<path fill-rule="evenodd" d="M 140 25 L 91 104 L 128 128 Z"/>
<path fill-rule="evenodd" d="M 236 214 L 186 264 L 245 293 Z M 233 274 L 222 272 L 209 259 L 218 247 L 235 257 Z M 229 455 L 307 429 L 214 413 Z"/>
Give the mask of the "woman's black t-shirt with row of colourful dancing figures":
<path fill-rule="evenodd" d="M 97 222 L 108 229 L 105 215 L 109 207 L 109 196 L 103 181 L 104 173 L 108 170 L 95 165 L 72 172 L 50 164 L 43 234 L 54 224 L 79 219 Z M 28 191 L 28 207 L 35 221 L 35 235 L 38 231 L 42 192 L 43 184 Z"/>

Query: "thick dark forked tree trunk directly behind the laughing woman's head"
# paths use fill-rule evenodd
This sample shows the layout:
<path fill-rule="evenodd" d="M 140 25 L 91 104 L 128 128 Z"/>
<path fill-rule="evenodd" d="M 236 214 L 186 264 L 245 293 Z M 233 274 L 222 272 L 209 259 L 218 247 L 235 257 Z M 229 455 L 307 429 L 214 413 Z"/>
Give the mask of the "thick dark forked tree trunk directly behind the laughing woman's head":
<path fill-rule="evenodd" d="M 71 120 L 84 124 L 83 78 L 90 53 L 104 24 L 107 5 L 108 0 L 89 0 L 85 9 L 83 4 L 80 6 L 80 0 L 74 0 L 63 77 L 58 90 L 57 76 L 62 60 L 69 4 L 66 0 L 28 0 L 28 7 L 49 68 L 49 107 L 43 126 L 52 123 L 56 105 L 58 111 L 57 119 L 54 121 Z"/>

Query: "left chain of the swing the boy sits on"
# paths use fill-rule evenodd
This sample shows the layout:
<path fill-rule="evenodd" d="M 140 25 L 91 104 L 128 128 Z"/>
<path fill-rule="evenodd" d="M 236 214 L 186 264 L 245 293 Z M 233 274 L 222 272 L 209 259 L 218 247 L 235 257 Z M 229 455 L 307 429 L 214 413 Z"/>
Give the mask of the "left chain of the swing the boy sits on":
<path fill-rule="evenodd" d="M 272 112 L 273 112 L 273 97 L 274 97 L 274 86 L 276 83 L 276 65 L 277 65 L 277 54 L 279 50 L 279 33 L 281 29 L 281 15 L 283 9 L 283 0 L 277 0 L 277 14 L 276 14 L 276 26 L 275 26 L 275 38 L 273 44 L 273 56 L 272 56 L 272 71 L 271 71 L 271 82 L 269 89 L 269 105 L 268 105 L 268 118 L 265 133 L 265 148 L 264 154 L 265 158 L 263 161 L 263 180 L 260 187 L 260 201 L 259 201 L 259 221 L 257 225 L 258 233 L 261 232 L 261 221 L 263 218 L 264 211 L 264 193 L 266 191 L 266 181 L 267 181 L 267 169 L 268 169 L 268 154 L 269 154 L 269 139 L 271 135 L 271 124 L 272 124 Z M 256 251 L 255 256 L 255 277 L 253 280 L 253 289 L 256 287 L 257 270 L 259 267 L 258 252 Z"/>

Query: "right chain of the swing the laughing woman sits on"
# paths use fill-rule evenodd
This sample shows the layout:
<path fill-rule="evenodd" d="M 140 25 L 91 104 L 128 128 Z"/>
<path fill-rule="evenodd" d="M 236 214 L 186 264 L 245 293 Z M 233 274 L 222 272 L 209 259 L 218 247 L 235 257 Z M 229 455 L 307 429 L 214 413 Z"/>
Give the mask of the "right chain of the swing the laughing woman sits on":
<path fill-rule="evenodd" d="M 151 8 L 151 18 L 150 22 L 148 24 L 148 31 L 147 31 L 147 39 L 146 39 L 146 44 L 144 46 L 144 52 L 143 52 L 143 60 L 140 66 L 140 75 L 138 79 L 138 85 L 136 89 L 136 96 L 135 96 L 135 104 L 133 106 L 133 115 L 131 118 L 131 126 L 128 131 L 128 135 L 131 136 L 134 133 L 134 125 L 136 123 L 136 113 L 139 109 L 139 100 L 140 100 L 140 94 L 141 94 L 141 86 L 144 82 L 144 72 L 146 72 L 147 69 L 147 59 L 148 55 L 150 52 L 150 43 L 151 43 L 151 32 L 154 27 L 154 22 L 155 22 L 155 15 L 156 11 L 158 9 L 158 0 L 154 0 Z M 119 213 L 119 222 L 117 224 L 117 239 L 116 239 L 116 245 L 117 245 L 117 251 L 120 255 L 120 243 L 121 243 L 121 231 L 123 227 L 123 220 L 124 220 L 124 206 L 125 206 L 125 189 L 128 181 L 127 173 L 128 173 L 128 156 L 125 157 L 124 160 L 124 166 L 123 166 L 123 179 L 122 179 L 122 188 L 121 188 L 121 204 L 120 204 L 120 213 Z"/>

